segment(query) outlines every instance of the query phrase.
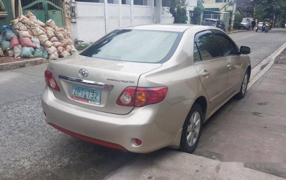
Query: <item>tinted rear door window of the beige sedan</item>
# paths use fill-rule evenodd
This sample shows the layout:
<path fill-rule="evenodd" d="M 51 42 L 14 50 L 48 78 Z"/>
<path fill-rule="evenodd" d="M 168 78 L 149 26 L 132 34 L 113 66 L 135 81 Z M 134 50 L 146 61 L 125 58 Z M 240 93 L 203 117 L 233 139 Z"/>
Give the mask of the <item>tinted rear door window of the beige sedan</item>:
<path fill-rule="evenodd" d="M 211 34 L 199 37 L 195 43 L 200 53 L 201 61 L 220 56 L 216 41 Z M 195 59 L 194 57 L 194 61 L 196 60 L 197 58 Z"/>

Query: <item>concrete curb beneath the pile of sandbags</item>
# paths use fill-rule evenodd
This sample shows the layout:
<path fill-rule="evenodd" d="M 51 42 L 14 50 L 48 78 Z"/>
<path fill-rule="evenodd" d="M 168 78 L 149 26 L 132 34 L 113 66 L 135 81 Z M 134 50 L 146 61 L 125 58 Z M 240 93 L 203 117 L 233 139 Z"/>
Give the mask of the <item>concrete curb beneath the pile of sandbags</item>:
<path fill-rule="evenodd" d="M 27 60 L 17 61 L 17 62 L 3 63 L 3 64 L 0 64 L 0 71 L 35 66 L 35 65 L 45 64 L 49 62 L 50 62 L 49 59 L 40 57 L 40 58 L 27 59 Z"/>

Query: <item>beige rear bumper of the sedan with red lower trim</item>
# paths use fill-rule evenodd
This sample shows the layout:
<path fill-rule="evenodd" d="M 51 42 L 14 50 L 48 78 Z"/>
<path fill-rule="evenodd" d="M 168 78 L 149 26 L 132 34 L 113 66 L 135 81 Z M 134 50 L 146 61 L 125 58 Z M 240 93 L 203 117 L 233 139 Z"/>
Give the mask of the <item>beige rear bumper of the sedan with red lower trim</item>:
<path fill-rule="evenodd" d="M 81 140 L 136 153 L 173 145 L 191 103 L 192 100 L 177 104 L 162 101 L 119 115 L 58 100 L 47 87 L 42 95 L 46 123 Z M 140 146 L 135 138 L 142 141 Z"/>

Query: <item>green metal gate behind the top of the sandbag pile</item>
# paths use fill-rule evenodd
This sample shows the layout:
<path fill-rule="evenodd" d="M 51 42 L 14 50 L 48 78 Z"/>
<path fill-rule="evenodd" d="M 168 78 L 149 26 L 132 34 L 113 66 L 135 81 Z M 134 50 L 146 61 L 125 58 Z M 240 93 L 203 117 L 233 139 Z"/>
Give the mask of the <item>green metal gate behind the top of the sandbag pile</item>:
<path fill-rule="evenodd" d="M 61 4 L 59 0 L 21 0 L 24 15 L 30 11 L 43 23 L 49 19 L 54 20 L 58 27 L 65 25 Z"/>

